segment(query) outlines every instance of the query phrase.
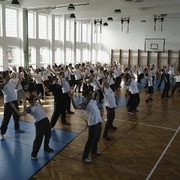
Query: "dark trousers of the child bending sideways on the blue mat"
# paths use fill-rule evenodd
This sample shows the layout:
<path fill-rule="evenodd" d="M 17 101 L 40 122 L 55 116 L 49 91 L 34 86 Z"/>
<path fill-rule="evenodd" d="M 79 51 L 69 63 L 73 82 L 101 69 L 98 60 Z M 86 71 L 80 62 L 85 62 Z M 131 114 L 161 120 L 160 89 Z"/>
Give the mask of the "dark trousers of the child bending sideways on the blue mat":
<path fill-rule="evenodd" d="M 49 140 L 51 138 L 51 127 L 48 118 L 44 118 L 35 123 L 36 136 L 33 142 L 33 148 L 31 156 L 36 157 L 41 147 L 43 137 L 44 138 L 44 149 L 49 148 Z"/>

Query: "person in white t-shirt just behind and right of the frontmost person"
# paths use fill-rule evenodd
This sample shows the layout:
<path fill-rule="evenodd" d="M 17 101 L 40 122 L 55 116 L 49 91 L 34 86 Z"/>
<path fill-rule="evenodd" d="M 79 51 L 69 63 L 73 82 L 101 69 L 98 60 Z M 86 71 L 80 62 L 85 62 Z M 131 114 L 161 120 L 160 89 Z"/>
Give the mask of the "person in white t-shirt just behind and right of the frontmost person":
<path fill-rule="evenodd" d="M 109 129 L 117 129 L 117 127 L 113 126 L 113 121 L 115 118 L 116 99 L 114 97 L 114 92 L 110 88 L 109 83 L 107 81 L 103 82 L 103 94 L 105 99 L 105 107 L 107 111 L 107 121 L 104 129 L 103 138 L 106 140 L 110 140 L 110 138 L 108 137 Z"/>

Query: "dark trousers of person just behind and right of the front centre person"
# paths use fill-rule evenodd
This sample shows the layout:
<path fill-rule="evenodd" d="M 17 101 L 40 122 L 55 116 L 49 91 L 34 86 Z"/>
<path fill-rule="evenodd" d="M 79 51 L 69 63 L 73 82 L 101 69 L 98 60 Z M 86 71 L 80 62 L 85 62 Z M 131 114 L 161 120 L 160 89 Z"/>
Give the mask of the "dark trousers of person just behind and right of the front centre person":
<path fill-rule="evenodd" d="M 113 123 L 114 118 L 115 118 L 115 108 L 109 108 L 106 106 L 106 112 L 107 112 L 107 121 L 106 121 L 106 125 L 104 128 L 103 136 L 107 136 L 108 130 L 112 127 L 112 123 Z"/>

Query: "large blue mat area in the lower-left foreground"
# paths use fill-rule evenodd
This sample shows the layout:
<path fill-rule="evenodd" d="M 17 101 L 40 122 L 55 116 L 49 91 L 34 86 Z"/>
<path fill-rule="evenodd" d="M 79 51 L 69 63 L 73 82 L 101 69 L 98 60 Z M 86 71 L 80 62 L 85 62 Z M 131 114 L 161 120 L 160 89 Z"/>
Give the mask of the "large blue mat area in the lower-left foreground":
<path fill-rule="evenodd" d="M 1 122 L 2 118 L 0 118 L 0 124 Z M 20 127 L 25 130 L 25 133 L 15 133 L 14 121 L 11 119 L 5 134 L 5 140 L 0 141 L 0 179 L 30 179 L 78 135 L 74 132 L 55 129 L 50 140 L 50 147 L 54 151 L 52 153 L 45 152 L 42 144 L 37 156 L 38 160 L 34 161 L 31 160 L 35 137 L 34 124 L 20 121 Z"/>

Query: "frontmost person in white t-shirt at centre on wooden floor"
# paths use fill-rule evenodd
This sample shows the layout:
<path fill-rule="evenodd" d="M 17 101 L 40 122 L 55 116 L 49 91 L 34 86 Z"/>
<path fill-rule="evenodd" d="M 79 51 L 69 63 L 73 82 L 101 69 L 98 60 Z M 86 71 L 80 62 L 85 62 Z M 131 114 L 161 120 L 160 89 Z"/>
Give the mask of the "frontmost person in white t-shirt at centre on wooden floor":
<path fill-rule="evenodd" d="M 97 106 L 98 97 L 93 100 L 93 92 L 90 89 L 86 89 L 83 93 L 84 95 L 84 102 L 80 104 L 76 104 L 73 94 L 70 94 L 72 99 L 72 104 L 75 109 L 83 109 L 88 118 L 88 128 L 89 128 L 89 135 L 88 140 L 86 142 L 84 153 L 82 160 L 85 163 L 91 163 L 91 159 L 89 159 L 89 154 L 94 153 L 96 155 L 101 155 L 101 152 L 97 150 L 97 145 L 101 136 L 102 130 L 102 119 L 99 108 Z"/>

